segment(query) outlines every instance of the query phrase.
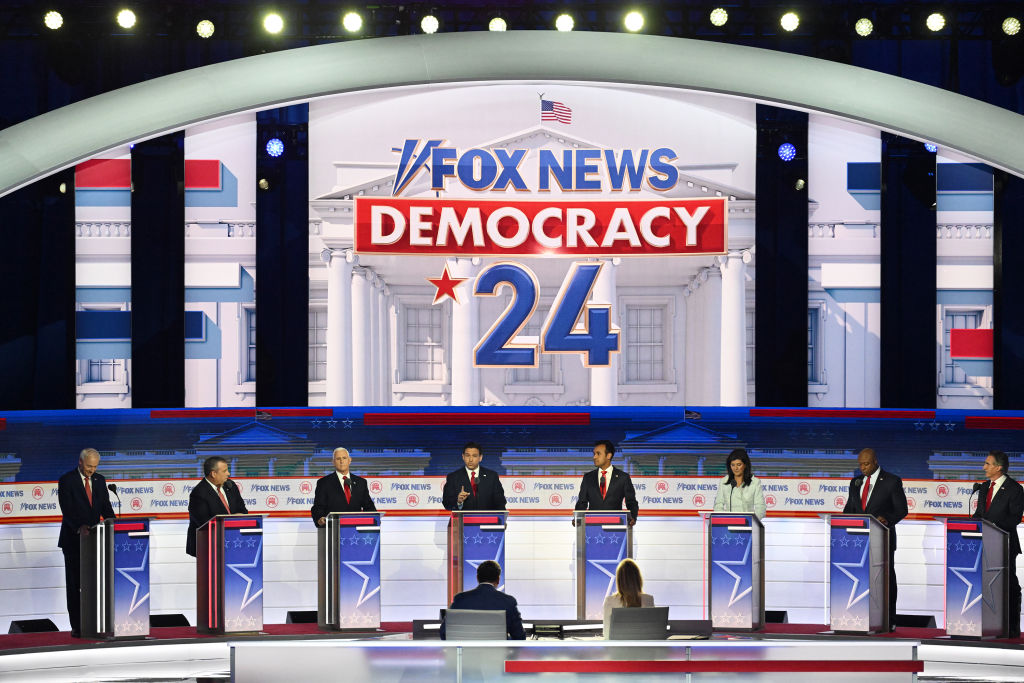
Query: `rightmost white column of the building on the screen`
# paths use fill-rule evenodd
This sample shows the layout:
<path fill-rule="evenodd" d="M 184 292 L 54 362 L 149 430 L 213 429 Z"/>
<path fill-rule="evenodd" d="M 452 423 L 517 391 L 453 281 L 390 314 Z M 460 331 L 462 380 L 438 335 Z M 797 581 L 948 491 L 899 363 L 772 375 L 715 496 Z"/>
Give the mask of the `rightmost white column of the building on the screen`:
<path fill-rule="evenodd" d="M 722 405 L 746 404 L 744 259 L 749 260 L 750 256 L 740 252 L 718 257 L 722 272 L 722 356 L 719 366 Z"/>

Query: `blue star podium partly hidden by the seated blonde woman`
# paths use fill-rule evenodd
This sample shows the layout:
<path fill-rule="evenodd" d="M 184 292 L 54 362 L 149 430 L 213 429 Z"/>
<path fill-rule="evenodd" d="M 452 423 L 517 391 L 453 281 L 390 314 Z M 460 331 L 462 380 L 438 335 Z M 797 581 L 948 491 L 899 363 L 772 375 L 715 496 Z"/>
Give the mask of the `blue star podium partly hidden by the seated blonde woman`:
<path fill-rule="evenodd" d="M 604 618 L 604 599 L 615 591 L 615 569 L 633 557 L 627 510 L 577 510 L 577 618 Z"/>

